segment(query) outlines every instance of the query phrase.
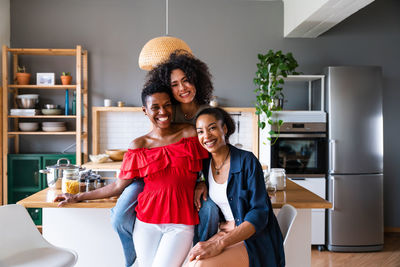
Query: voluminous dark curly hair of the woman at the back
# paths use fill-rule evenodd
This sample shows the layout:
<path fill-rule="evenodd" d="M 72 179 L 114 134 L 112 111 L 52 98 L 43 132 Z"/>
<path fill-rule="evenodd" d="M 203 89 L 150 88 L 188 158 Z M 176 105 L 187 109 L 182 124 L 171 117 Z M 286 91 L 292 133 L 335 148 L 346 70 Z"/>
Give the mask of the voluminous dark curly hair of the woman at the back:
<path fill-rule="evenodd" d="M 146 83 L 152 83 L 159 80 L 164 85 L 171 88 L 171 73 L 176 69 L 182 70 L 189 82 L 195 86 L 196 104 L 208 104 L 214 90 L 211 81 L 212 76 L 207 65 L 203 61 L 197 59 L 186 51 L 177 50 L 173 52 L 166 61 L 156 66 L 147 74 Z M 172 98 L 172 101 L 174 104 L 178 104 L 178 101 L 174 98 Z"/>

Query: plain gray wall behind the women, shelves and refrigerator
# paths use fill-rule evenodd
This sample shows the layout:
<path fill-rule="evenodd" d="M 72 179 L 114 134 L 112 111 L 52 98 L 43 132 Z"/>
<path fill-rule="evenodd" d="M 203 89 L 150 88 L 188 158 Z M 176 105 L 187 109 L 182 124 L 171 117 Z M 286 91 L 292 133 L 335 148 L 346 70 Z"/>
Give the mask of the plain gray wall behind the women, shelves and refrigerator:
<path fill-rule="evenodd" d="M 139 105 L 141 47 L 165 32 L 164 0 L 13 0 L 13 47 L 89 50 L 90 104 Z M 316 39 L 283 38 L 283 3 L 170 0 L 170 34 L 185 40 L 214 75 L 223 105 L 251 106 L 257 53 L 291 51 L 305 74 L 328 65 L 381 65 L 384 72 L 385 225 L 400 227 L 400 2 L 376 0 Z M 27 60 L 29 63 L 29 61 Z M 45 63 L 40 66 L 46 68 Z M 62 71 L 57 65 L 53 70 Z M 357 188 L 354 189 L 357 193 Z"/>

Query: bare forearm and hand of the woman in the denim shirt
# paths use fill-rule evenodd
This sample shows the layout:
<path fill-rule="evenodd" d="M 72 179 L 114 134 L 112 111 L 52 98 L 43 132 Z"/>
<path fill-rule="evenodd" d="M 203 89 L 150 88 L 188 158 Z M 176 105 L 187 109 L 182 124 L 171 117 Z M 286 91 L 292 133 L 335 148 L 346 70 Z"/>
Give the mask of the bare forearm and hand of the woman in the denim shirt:
<path fill-rule="evenodd" d="M 243 222 L 229 233 L 217 233 L 205 242 L 198 242 L 189 252 L 189 260 L 206 259 L 219 255 L 224 248 L 242 242 L 256 232 L 254 226 L 249 222 Z"/>

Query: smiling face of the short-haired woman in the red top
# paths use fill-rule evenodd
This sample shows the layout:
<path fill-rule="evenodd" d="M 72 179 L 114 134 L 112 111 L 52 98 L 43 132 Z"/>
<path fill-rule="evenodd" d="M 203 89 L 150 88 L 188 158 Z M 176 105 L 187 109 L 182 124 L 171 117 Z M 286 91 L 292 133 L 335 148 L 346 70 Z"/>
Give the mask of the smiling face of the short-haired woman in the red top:
<path fill-rule="evenodd" d="M 172 120 L 172 103 L 167 93 L 154 93 L 147 96 L 146 106 L 142 107 L 151 123 L 159 128 L 168 128 Z"/>

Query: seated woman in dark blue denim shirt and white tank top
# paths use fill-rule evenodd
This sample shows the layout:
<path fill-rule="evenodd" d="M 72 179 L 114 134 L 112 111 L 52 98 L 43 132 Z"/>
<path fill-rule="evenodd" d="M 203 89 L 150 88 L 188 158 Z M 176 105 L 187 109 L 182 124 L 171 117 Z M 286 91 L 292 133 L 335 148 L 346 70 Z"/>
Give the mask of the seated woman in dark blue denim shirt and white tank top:
<path fill-rule="evenodd" d="M 224 221 L 220 232 L 191 249 L 189 266 L 284 266 L 282 233 L 261 164 L 251 152 L 229 144 L 235 131 L 232 118 L 222 109 L 207 108 L 197 115 L 196 130 L 211 154 L 203 173 Z"/>

